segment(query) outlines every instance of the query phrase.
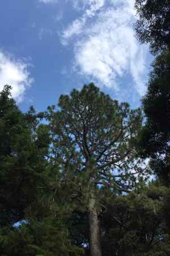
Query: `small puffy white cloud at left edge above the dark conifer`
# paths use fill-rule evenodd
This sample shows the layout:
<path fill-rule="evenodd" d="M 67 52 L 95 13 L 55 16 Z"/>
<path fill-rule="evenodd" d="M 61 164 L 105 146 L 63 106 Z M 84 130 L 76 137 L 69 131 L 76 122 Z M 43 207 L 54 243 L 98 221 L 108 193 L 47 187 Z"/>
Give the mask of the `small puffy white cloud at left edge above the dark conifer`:
<path fill-rule="evenodd" d="M 25 89 L 33 82 L 27 69 L 26 63 L 0 51 L 0 90 L 6 84 L 11 85 L 12 96 L 22 101 Z"/>

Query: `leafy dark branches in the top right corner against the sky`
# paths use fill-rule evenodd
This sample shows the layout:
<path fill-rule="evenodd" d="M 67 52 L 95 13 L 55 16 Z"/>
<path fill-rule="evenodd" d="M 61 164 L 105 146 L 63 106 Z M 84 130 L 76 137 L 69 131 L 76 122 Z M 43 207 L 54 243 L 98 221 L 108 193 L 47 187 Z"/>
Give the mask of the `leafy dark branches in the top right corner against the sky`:
<path fill-rule="evenodd" d="M 149 43 L 157 53 L 170 47 L 170 1 L 135 0 L 138 20 L 136 36 L 141 43 Z"/>

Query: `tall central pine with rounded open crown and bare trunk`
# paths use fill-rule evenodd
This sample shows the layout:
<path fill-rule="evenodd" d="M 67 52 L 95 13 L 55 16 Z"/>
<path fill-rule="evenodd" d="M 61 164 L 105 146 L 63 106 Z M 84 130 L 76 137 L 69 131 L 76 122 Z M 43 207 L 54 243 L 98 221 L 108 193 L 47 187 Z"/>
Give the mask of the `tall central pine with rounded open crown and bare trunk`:
<path fill-rule="evenodd" d="M 91 255 L 100 256 L 100 188 L 121 194 L 137 184 L 143 170 L 135 157 L 134 138 L 141 129 L 141 111 L 119 105 L 94 84 L 61 96 L 58 106 L 57 111 L 55 106 L 48 109 L 52 162 L 61 175 L 58 184 L 71 203 L 78 199 L 88 210 Z"/>

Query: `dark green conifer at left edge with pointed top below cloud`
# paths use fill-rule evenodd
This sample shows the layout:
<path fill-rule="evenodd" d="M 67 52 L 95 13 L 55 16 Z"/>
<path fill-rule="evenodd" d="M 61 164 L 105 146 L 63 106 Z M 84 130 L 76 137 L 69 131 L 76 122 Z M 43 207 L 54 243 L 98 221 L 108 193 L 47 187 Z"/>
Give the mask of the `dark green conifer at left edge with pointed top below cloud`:
<path fill-rule="evenodd" d="M 10 89 L 6 85 L 0 93 L 0 226 L 22 220 L 24 209 L 36 200 L 37 187 L 45 182 L 49 144 L 47 126 L 35 131 L 32 110 L 24 115 Z"/>

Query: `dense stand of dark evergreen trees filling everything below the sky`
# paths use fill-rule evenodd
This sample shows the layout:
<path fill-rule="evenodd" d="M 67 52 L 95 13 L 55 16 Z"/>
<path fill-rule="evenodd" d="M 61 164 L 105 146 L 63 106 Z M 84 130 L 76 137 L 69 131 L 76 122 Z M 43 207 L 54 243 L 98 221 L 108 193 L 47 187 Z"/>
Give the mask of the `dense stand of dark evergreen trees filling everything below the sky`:
<path fill-rule="evenodd" d="M 0 93 L 1 256 L 170 255 L 170 1 L 136 0 L 141 108 L 94 84 L 23 113 Z"/>

